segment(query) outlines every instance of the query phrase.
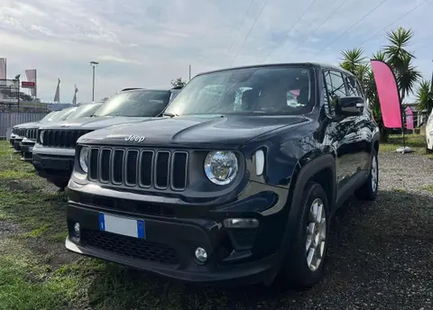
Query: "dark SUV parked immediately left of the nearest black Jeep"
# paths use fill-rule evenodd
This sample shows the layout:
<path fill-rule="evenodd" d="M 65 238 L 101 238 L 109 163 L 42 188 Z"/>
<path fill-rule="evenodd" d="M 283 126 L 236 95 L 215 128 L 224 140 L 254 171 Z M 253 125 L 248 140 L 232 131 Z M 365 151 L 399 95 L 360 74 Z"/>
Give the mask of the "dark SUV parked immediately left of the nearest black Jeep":
<path fill-rule="evenodd" d="M 77 139 L 88 132 L 121 123 L 143 122 L 161 114 L 179 90 L 131 89 L 118 92 L 92 117 L 41 126 L 32 150 L 32 164 L 39 176 L 60 189 L 67 187 Z"/>

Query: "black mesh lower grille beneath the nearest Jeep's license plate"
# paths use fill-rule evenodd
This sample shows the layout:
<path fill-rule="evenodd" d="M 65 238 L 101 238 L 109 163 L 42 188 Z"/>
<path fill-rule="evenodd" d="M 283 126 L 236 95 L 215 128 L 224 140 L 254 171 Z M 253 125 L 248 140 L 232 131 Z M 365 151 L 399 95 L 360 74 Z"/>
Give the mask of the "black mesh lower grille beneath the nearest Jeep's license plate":
<path fill-rule="evenodd" d="M 146 242 L 143 239 L 93 230 L 82 230 L 81 241 L 84 245 L 135 259 L 169 265 L 179 264 L 176 251 L 167 244 Z"/>

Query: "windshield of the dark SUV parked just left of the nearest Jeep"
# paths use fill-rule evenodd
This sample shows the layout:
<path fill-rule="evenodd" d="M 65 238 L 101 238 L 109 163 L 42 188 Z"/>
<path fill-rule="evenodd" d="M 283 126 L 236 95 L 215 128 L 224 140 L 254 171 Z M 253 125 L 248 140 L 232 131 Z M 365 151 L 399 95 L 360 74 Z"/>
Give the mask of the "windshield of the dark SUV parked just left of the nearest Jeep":
<path fill-rule="evenodd" d="M 170 91 L 133 90 L 115 94 L 102 105 L 95 116 L 154 117 L 168 105 Z"/>

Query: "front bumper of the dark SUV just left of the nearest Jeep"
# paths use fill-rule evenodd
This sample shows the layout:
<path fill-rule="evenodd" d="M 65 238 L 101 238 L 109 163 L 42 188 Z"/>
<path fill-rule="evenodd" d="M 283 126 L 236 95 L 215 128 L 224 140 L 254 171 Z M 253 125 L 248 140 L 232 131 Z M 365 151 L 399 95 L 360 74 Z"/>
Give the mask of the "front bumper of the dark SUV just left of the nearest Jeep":
<path fill-rule="evenodd" d="M 52 148 L 54 149 L 54 148 Z M 41 178 L 68 182 L 74 167 L 75 150 L 32 147 L 32 165 Z"/>

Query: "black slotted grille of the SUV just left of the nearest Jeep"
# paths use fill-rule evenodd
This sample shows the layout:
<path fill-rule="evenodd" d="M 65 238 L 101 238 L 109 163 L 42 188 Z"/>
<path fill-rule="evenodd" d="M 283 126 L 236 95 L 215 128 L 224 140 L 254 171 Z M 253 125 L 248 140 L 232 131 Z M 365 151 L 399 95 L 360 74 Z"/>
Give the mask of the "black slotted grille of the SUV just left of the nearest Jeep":
<path fill-rule="evenodd" d="M 49 129 L 43 131 L 43 141 L 40 141 L 39 133 L 37 134 L 37 139 L 38 142 L 44 146 L 60 147 L 60 148 L 75 148 L 78 138 L 88 132 L 91 131 Z"/>

